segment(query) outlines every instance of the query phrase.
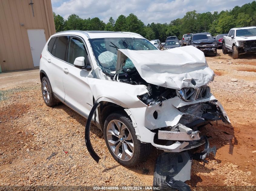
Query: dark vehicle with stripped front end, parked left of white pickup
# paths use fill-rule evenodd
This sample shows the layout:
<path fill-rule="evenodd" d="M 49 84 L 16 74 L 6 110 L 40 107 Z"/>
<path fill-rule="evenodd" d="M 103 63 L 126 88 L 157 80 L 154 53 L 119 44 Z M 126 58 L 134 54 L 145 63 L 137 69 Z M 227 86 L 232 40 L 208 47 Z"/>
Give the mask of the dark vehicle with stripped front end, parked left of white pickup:
<path fill-rule="evenodd" d="M 210 56 L 217 55 L 217 44 L 215 39 L 211 36 L 211 33 L 195 33 L 188 39 L 188 45 L 192 45 L 204 54 Z"/>

